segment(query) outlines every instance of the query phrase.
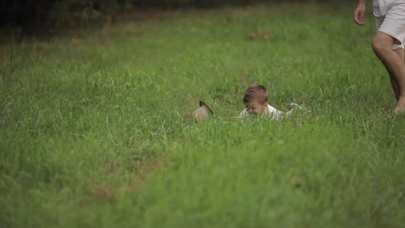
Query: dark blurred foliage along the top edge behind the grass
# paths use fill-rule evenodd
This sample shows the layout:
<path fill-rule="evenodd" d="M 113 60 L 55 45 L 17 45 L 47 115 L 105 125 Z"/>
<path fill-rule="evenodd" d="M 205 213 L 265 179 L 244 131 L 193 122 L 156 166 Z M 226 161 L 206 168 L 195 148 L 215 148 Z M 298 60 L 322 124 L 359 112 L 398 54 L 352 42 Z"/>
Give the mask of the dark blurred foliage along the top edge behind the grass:
<path fill-rule="evenodd" d="M 0 26 L 2 30 L 29 34 L 38 30 L 49 32 L 55 27 L 89 25 L 134 12 L 134 8 L 139 12 L 143 8 L 216 8 L 263 2 L 356 4 L 349 0 L 14 0 L 1 1 Z"/>

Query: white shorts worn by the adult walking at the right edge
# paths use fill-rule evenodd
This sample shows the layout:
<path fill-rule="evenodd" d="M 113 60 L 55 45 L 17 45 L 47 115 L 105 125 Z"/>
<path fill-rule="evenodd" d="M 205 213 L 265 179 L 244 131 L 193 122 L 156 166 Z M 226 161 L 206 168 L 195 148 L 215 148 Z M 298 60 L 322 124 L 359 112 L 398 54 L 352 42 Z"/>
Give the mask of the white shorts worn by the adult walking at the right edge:
<path fill-rule="evenodd" d="M 393 49 L 405 46 L 405 0 L 397 0 L 383 16 L 375 16 L 378 32 L 384 32 L 395 38 Z"/>

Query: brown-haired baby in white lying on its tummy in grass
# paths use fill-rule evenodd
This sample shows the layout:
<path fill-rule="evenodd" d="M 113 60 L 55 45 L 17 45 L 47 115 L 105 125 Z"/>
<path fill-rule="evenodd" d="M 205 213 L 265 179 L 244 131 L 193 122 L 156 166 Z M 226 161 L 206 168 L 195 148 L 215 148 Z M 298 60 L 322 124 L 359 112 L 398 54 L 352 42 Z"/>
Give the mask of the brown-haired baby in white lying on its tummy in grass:
<path fill-rule="evenodd" d="M 287 113 L 283 113 L 282 111 L 278 111 L 273 106 L 268 104 L 268 93 L 264 86 L 261 84 L 251 84 L 248 89 L 246 89 L 246 93 L 244 94 L 243 98 L 244 105 L 246 109 L 240 113 L 239 118 L 253 115 L 253 116 L 268 116 L 270 119 L 279 119 L 283 116 L 289 116 L 294 109 L 294 106 L 297 104 L 290 104 L 289 111 Z"/>

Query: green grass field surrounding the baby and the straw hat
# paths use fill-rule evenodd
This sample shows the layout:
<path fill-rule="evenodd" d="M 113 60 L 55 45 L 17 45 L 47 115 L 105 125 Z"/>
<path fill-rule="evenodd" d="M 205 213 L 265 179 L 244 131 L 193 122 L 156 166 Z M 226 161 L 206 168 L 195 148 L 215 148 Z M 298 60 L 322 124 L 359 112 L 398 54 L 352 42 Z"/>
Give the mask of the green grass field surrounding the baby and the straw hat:
<path fill-rule="evenodd" d="M 404 227 L 405 117 L 355 6 L 178 10 L 3 45 L 1 227 Z M 310 113 L 240 121 L 251 83 Z M 196 124 L 200 100 L 215 115 Z"/>

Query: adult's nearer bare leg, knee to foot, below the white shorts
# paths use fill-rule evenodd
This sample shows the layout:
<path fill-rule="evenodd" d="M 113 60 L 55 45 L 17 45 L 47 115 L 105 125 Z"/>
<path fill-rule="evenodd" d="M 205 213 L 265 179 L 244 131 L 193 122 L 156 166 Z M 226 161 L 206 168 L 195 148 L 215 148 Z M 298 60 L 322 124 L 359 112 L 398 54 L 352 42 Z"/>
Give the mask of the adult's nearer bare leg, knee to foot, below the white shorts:
<path fill-rule="evenodd" d="M 377 32 L 373 38 L 373 51 L 380 61 L 384 64 L 386 70 L 392 76 L 394 83 L 393 89 L 397 87 L 399 98 L 395 113 L 405 112 L 405 65 L 403 58 L 392 49 L 395 38 L 385 34 L 384 32 Z M 399 51 L 398 51 L 399 52 Z M 395 85 L 396 84 L 396 85 Z"/>

